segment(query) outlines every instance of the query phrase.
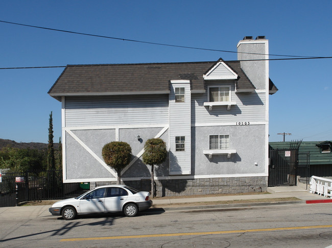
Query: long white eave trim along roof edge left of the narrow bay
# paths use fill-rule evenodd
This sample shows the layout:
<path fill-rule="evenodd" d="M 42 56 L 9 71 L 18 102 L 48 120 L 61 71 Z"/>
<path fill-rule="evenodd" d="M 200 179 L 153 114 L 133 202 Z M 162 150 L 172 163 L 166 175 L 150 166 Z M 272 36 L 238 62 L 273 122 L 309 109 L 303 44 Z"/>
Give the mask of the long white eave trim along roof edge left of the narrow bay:
<path fill-rule="evenodd" d="M 75 92 L 75 93 L 50 93 L 51 96 L 92 96 L 92 95 L 150 95 L 169 94 L 170 90 L 155 91 L 114 91 L 114 92 Z"/>

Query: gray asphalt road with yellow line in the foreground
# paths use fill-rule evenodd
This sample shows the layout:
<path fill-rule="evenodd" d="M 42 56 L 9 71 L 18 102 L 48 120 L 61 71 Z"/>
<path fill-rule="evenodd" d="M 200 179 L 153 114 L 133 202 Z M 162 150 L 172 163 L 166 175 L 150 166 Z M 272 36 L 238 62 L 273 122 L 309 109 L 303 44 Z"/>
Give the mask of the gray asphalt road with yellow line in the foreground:
<path fill-rule="evenodd" d="M 332 205 L 0 220 L 0 247 L 328 247 Z"/>

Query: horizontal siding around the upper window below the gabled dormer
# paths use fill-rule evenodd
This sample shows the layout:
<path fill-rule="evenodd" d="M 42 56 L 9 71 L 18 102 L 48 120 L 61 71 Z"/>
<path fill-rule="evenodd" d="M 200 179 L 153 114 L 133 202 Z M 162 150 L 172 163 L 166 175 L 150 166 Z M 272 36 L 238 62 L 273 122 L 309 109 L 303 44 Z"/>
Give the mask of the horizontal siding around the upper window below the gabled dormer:
<path fill-rule="evenodd" d="M 265 121 L 265 93 L 235 94 L 231 93 L 232 105 L 228 111 L 227 106 L 213 106 L 209 111 L 208 106 L 203 106 L 207 102 L 207 94 L 192 95 L 192 125 L 195 123 L 223 123 L 238 121 Z"/>

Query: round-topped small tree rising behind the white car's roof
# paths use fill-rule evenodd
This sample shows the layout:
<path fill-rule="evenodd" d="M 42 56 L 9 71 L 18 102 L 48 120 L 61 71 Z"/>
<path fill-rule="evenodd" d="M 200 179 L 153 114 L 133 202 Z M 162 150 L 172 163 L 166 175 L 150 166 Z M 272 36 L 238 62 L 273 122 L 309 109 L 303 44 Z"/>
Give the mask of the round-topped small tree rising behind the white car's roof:
<path fill-rule="evenodd" d="M 102 155 L 105 163 L 117 173 L 117 184 L 121 184 L 121 170 L 131 160 L 131 147 L 126 142 L 113 141 L 104 145 Z"/>

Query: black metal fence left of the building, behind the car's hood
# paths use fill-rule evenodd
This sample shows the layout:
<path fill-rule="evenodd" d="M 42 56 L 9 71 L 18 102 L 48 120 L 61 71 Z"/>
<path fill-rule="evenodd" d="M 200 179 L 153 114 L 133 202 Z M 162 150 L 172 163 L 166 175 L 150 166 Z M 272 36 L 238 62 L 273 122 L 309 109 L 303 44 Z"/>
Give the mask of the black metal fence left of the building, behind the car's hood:
<path fill-rule="evenodd" d="M 22 202 L 65 199 L 86 191 L 80 183 L 63 183 L 62 170 L 2 172 L 0 207 Z"/>

